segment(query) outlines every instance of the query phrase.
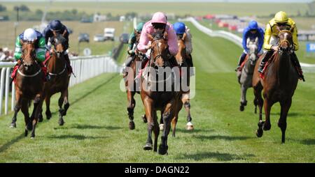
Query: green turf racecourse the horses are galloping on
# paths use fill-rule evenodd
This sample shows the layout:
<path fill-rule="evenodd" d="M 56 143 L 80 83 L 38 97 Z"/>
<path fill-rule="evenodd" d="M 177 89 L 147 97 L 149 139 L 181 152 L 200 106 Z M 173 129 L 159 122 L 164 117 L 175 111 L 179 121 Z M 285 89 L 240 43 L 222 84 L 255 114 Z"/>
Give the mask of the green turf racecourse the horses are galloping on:
<path fill-rule="evenodd" d="M 253 90 L 248 106 L 239 111 L 239 84 L 235 72 L 241 49 L 221 38 L 193 33 L 196 96 L 191 100 L 195 130 L 186 131 L 181 111 L 176 137 L 169 137 L 169 155 L 144 151 L 146 124 L 140 116 L 142 102 L 136 95 L 136 129 L 128 129 L 126 94 L 119 89 L 121 76 L 104 74 L 70 88 L 71 107 L 57 125 L 54 112 L 36 129 L 36 138 L 24 137 L 24 118 L 10 129 L 10 118 L 0 117 L 0 162 L 315 162 L 315 75 L 299 82 L 288 115 L 286 144 L 281 144 L 279 104 L 272 107 L 272 129 L 255 136 L 258 115 L 253 114 Z M 125 55 L 123 55 L 125 56 Z M 120 61 L 122 61 L 120 59 Z M 159 138 L 160 144 L 160 138 Z"/>

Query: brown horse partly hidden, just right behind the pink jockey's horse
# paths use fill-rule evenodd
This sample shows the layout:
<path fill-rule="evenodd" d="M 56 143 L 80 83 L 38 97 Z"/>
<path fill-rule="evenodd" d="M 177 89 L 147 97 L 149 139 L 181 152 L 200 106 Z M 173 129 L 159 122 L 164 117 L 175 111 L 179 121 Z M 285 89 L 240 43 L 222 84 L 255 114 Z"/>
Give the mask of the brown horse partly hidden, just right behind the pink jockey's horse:
<path fill-rule="evenodd" d="M 183 36 L 177 36 L 177 43 L 179 45 L 179 52 L 177 52 L 175 59 L 177 63 L 179 64 L 179 67 L 181 68 L 181 102 L 177 104 L 177 112 L 172 119 L 172 136 L 175 137 L 175 131 L 176 131 L 176 123 L 179 119 L 179 111 L 181 111 L 181 108 L 185 107 L 187 111 L 187 124 L 186 124 L 186 130 L 193 130 L 193 123 L 192 118 L 190 116 L 190 98 L 189 93 L 190 91 L 184 91 L 182 88 L 183 79 L 186 79 L 186 84 L 189 87 L 190 85 L 190 66 L 186 62 L 186 46 L 185 46 L 185 38 L 186 33 L 183 33 Z M 183 70 L 184 68 L 187 68 L 186 70 Z M 184 73 L 186 72 L 186 73 Z"/>

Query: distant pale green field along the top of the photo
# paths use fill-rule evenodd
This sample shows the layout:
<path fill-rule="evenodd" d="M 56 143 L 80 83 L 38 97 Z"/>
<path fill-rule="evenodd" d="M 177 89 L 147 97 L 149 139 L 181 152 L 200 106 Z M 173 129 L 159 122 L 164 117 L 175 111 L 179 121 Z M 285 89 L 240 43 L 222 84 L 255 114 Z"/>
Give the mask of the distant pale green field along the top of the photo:
<path fill-rule="evenodd" d="M 18 4 L 27 5 L 31 11 L 37 9 L 45 10 L 47 2 L 3 2 L 8 10 L 13 10 L 13 6 Z M 162 8 L 161 8 L 162 7 Z M 307 3 L 125 3 L 125 2 L 53 2 L 50 11 L 64 11 L 76 8 L 79 12 L 86 13 L 111 13 L 112 15 L 125 15 L 128 12 L 138 14 L 153 13 L 162 10 L 165 13 L 175 13 L 177 15 L 206 15 L 211 14 L 231 14 L 231 15 L 269 15 L 279 10 L 290 12 L 296 15 L 300 10 L 302 15 L 308 10 Z"/>

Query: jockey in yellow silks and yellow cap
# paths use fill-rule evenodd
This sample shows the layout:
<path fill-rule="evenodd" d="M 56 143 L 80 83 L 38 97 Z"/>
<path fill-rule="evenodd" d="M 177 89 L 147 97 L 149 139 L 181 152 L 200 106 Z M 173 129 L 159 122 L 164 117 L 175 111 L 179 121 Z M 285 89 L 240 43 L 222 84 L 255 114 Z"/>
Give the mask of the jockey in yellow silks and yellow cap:
<path fill-rule="evenodd" d="M 277 26 L 279 26 L 279 28 L 283 28 L 283 27 L 292 27 L 295 26 L 295 22 L 288 18 L 288 15 L 286 15 L 285 12 L 280 11 L 278 13 L 276 13 L 276 15 L 274 16 L 274 18 L 272 20 L 270 20 L 268 22 L 268 24 L 266 25 L 266 29 L 265 29 L 265 39 L 264 39 L 264 48 L 267 50 L 267 53 L 264 57 L 264 59 L 262 59 L 260 66 L 258 68 L 258 72 L 262 72 L 263 69 L 265 68 L 265 64 L 267 63 L 267 61 L 269 60 L 269 58 L 272 56 L 272 54 L 274 54 L 274 51 L 278 50 L 278 33 L 279 30 L 277 29 Z M 302 79 L 304 81 L 304 76 L 303 76 L 303 72 L 300 66 L 300 62 L 297 59 L 297 56 L 295 54 L 294 51 L 297 51 L 299 49 L 299 43 L 297 40 L 297 28 L 296 26 L 293 29 L 293 51 L 290 54 L 290 59 L 293 63 L 293 65 L 295 66 L 297 73 L 300 77 L 300 79 Z"/>

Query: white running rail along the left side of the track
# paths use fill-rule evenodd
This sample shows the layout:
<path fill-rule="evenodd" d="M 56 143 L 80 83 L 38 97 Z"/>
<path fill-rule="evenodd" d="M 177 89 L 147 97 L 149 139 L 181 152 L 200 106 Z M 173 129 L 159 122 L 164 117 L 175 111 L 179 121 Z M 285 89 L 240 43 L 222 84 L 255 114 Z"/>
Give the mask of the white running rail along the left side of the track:
<path fill-rule="evenodd" d="M 104 72 L 119 72 L 121 70 L 116 61 L 109 56 L 78 56 L 72 57 L 70 61 L 76 77 L 71 75 L 69 87 L 101 75 Z M 0 116 L 3 114 L 3 105 L 4 114 L 8 114 L 8 99 L 10 95 L 12 95 L 10 103 L 11 111 L 15 107 L 15 94 L 11 94 L 15 93 L 14 82 L 10 86 L 10 71 L 13 66 L 15 66 L 13 62 L 0 62 Z"/>

